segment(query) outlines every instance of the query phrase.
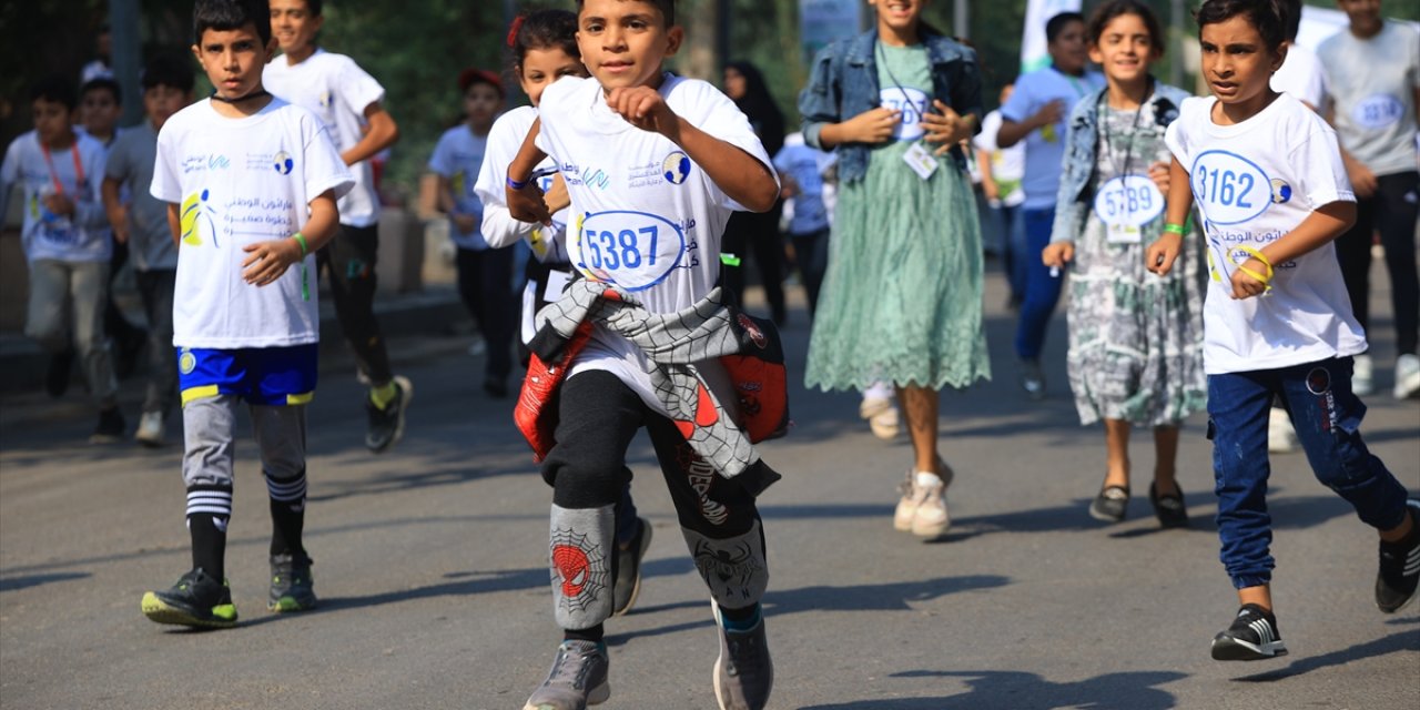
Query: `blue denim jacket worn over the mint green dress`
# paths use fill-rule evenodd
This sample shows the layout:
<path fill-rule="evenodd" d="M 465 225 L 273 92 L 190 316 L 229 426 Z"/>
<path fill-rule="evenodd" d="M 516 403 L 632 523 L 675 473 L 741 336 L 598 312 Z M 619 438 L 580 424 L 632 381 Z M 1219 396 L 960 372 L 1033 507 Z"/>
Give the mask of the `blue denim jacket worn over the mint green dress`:
<path fill-rule="evenodd" d="M 804 116 L 804 141 L 821 151 L 819 133 L 824 124 L 839 124 L 865 111 L 878 108 L 878 62 L 873 50 L 878 30 L 869 30 L 852 40 L 838 40 L 824 47 L 814 58 L 808 84 L 799 92 L 799 114 Z M 927 36 L 927 61 L 932 64 L 932 97 L 951 106 L 963 118 L 977 116 L 981 125 L 981 71 L 976 51 L 956 40 L 937 34 Z M 838 146 L 838 179 L 849 183 L 868 175 L 869 143 Z M 951 155 L 960 165 L 966 158 L 958 146 Z"/>

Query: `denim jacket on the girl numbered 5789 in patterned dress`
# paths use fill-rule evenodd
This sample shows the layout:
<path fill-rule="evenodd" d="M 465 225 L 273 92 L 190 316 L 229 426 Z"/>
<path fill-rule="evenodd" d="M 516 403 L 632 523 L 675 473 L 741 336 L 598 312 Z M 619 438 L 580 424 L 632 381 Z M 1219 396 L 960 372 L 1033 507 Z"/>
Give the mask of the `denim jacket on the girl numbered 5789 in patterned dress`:
<path fill-rule="evenodd" d="M 1095 197 L 1095 143 L 1099 141 L 1099 105 L 1109 89 L 1093 92 L 1075 104 L 1065 132 L 1065 162 L 1061 166 L 1061 192 L 1055 199 L 1055 224 L 1051 227 L 1051 241 L 1075 241 L 1085 231 Z M 1167 128 L 1179 118 L 1183 99 L 1191 97 L 1187 91 L 1167 84 L 1154 82 L 1153 95 L 1145 102 L 1159 128 Z M 1167 196 L 1166 196 L 1167 197 Z"/>

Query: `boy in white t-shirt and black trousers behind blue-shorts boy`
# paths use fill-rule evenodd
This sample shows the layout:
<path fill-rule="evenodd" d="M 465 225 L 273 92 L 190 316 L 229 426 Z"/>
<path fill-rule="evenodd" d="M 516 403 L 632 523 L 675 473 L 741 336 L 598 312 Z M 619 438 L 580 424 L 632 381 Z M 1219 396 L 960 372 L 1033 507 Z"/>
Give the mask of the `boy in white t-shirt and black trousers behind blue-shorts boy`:
<path fill-rule="evenodd" d="M 375 263 L 379 251 L 379 195 L 369 159 L 399 139 L 399 126 L 381 104 L 385 88 L 344 54 L 315 45 L 325 17 L 321 0 L 271 0 L 271 31 L 284 61 L 266 68 L 266 87 L 284 101 L 312 111 L 325 124 L 355 187 L 341 197 L 341 224 L 315 261 L 331 281 L 335 317 L 369 381 L 365 447 L 381 453 L 405 436 L 405 412 L 415 389 L 389 368 L 385 337 L 375 320 Z"/>

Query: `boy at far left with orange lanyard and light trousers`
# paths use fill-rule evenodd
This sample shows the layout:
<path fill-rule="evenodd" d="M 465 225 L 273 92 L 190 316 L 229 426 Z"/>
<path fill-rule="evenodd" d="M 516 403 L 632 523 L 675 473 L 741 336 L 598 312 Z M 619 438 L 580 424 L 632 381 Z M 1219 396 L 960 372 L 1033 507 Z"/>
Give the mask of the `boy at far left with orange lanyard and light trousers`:
<path fill-rule="evenodd" d="M 10 189 L 18 183 L 24 190 L 20 241 L 30 266 L 24 334 L 51 355 L 47 386 L 54 396 L 68 388 L 72 359 L 65 354 L 77 348 L 99 410 L 89 442 L 114 443 L 124 436 L 124 415 L 104 341 L 112 253 L 99 199 L 104 145 L 74 131 L 78 97 L 68 80 L 43 80 L 30 98 L 34 131 L 10 143 L 0 168 L 0 214 Z"/>

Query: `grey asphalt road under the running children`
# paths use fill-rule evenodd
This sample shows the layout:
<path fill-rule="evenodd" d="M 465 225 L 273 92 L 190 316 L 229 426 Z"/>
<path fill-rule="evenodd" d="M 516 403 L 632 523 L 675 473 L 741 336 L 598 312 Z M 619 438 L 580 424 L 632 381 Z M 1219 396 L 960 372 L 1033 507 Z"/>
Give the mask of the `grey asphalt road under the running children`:
<path fill-rule="evenodd" d="M 1379 271 L 1379 267 L 1377 267 Z M 1383 281 L 1382 281 L 1383 285 Z M 798 295 L 798 290 L 792 290 Z M 1389 305 L 1377 294 L 1383 393 L 1363 432 L 1420 491 L 1420 403 L 1389 393 Z M 1275 604 L 1291 655 L 1217 663 L 1211 636 L 1235 601 L 1217 561 L 1203 419 L 1184 432 L 1193 527 L 1160 531 L 1142 493 L 1152 446 L 1132 449 L 1130 518 L 1086 514 L 1103 436 L 1082 429 L 1064 372 L 1064 318 L 1047 351 L 1051 396 L 1014 385 L 1000 277 L 988 278 L 995 379 L 943 398 L 943 454 L 957 470 L 943 541 L 892 530 L 906 437 L 875 439 L 856 398 L 795 389 L 795 429 L 763 446 L 785 479 L 761 498 L 771 584 L 774 709 L 1404 709 L 1420 707 L 1420 605 L 1386 616 L 1376 538 L 1318 484 L 1301 454 L 1274 457 Z M 801 382 L 802 308 L 787 329 Z M 321 609 L 264 609 L 268 517 L 250 436 L 239 446 L 227 574 L 241 623 L 149 623 L 145 589 L 190 567 L 180 446 L 89 447 L 77 396 L 0 399 L 0 706 L 6 709 L 518 709 L 559 635 L 551 619 L 550 490 L 487 399 L 467 339 L 392 344 L 415 382 L 409 433 L 385 456 L 361 446 L 348 361 L 329 358 L 310 410 L 307 545 Z M 125 386 L 129 412 L 138 385 Z M 131 416 L 135 419 L 135 416 Z M 608 623 L 602 707 L 713 709 L 717 653 L 649 443 L 633 484 L 655 540 L 633 612 Z"/>

